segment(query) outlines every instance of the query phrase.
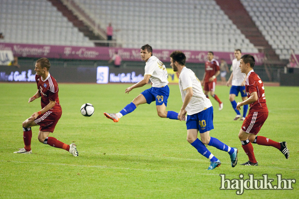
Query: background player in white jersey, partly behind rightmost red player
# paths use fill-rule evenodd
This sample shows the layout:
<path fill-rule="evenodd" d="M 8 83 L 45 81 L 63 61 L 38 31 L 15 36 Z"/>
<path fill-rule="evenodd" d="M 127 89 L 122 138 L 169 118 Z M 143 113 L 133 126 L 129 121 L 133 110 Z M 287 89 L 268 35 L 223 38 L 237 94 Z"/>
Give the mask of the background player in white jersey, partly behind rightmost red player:
<path fill-rule="evenodd" d="M 239 92 L 241 93 L 241 97 L 242 97 L 242 101 L 247 100 L 247 94 L 245 91 L 245 73 L 241 73 L 240 71 L 240 60 L 241 60 L 241 50 L 240 49 L 236 49 L 234 51 L 235 54 L 235 58 L 233 59 L 233 63 L 232 63 L 232 69 L 233 72 L 229 78 L 229 80 L 226 83 L 226 86 L 229 86 L 230 83 L 232 83 L 232 87 L 229 91 L 229 100 L 235 110 L 235 112 L 237 113 L 236 117 L 234 118 L 234 120 L 238 120 L 239 118 L 241 118 L 240 120 L 244 120 L 246 117 L 246 113 L 248 110 L 248 104 L 243 106 L 243 116 L 241 117 L 241 113 L 240 111 L 237 109 L 237 102 L 235 101 L 235 97 L 238 97 Z"/>

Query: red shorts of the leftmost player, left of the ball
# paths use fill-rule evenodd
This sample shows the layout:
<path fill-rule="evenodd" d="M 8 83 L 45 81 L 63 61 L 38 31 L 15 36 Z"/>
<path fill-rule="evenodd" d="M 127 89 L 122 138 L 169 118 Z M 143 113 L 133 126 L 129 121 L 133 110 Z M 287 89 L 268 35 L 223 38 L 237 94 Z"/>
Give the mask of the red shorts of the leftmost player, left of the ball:
<path fill-rule="evenodd" d="M 39 125 L 40 131 L 49 131 L 53 133 L 61 114 L 61 110 L 48 110 L 47 112 L 39 115 L 34 122 Z"/>

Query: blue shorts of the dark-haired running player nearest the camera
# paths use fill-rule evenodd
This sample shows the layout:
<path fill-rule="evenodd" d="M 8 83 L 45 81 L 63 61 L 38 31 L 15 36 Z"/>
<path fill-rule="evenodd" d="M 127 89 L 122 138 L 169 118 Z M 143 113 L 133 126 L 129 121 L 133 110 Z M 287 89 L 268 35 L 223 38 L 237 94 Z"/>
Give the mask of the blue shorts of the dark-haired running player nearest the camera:
<path fill-rule="evenodd" d="M 204 133 L 214 129 L 213 106 L 193 115 L 188 115 L 186 125 L 187 130 L 198 129 L 199 133 Z"/>

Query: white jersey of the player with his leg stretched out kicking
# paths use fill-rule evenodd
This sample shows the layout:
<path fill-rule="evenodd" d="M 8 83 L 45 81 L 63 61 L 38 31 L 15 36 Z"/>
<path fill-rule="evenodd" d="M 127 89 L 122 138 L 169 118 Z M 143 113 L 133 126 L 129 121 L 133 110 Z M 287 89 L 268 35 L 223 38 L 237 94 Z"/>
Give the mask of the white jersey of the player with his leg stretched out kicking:
<path fill-rule="evenodd" d="M 165 87 L 168 84 L 168 73 L 165 65 L 155 56 L 151 56 L 146 63 L 145 76 L 150 75 L 152 87 Z"/>

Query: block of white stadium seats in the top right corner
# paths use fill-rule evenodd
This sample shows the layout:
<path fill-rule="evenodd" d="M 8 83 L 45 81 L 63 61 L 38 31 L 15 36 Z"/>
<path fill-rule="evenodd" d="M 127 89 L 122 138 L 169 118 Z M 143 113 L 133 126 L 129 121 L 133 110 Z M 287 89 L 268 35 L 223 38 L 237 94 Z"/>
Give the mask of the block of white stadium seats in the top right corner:
<path fill-rule="evenodd" d="M 280 59 L 289 59 L 290 49 L 299 52 L 298 0 L 241 2 Z"/>

